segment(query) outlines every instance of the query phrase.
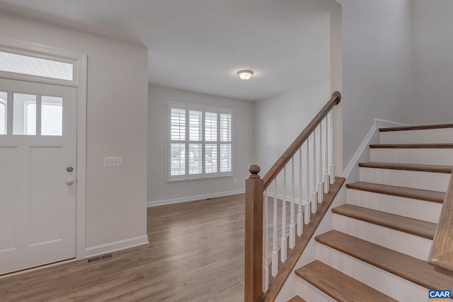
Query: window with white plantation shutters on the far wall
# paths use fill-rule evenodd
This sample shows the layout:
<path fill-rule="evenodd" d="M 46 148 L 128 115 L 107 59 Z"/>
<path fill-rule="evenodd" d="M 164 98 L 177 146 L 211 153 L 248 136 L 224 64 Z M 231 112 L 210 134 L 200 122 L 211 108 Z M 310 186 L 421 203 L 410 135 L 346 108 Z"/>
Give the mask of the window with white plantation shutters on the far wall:
<path fill-rule="evenodd" d="M 167 103 L 167 180 L 231 176 L 232 110 Z"/>

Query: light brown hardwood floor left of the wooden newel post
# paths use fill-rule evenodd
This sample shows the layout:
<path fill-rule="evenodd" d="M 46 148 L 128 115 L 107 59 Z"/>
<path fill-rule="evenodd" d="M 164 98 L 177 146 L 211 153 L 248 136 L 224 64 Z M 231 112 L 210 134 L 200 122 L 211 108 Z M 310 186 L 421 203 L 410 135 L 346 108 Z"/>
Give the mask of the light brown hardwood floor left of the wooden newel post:
<path fill-rule="evenodd" d="M 244 197 L 148 209 L 149 244 L 0 279 L 0 301 L 243 301 Z"/>

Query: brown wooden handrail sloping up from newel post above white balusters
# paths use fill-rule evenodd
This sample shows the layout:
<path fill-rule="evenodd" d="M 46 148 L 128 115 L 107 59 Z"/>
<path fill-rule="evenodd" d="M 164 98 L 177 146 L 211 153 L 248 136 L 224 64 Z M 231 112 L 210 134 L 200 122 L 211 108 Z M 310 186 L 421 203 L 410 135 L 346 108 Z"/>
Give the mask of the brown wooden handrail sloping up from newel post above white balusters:
<path fill-rule="evenodd" d="M 304 131 L 299 134 L 299 137 L 297 137 L 291 145 L 289 145 L 288 149 L 278 158 L 278 160 L 275 162 L 275 164 L 272 166 L 272 168 L 269 169 L 268 173 L 264 175 L 263 177 L 263 190 L 265 190 L 269 185 L 270 182 L 273 182 L 275 177 L 280 173 L 280 171 L 285 167 L 285 165 L 288 163 L 288 161 L 294 156 L 294 154 L 299 150 L 299 148 L 304 144 L 306 139 L 309 138 L 311 132 L 314 132 L 316 127 L 318 127 L 319 123 L 323 120 L 326 115 L 328 115 L 328 112 L 331 111 L 333 106 L 337 105 L 340 103 L 341 100 L 341 93 L 336 91 L 332 93 L 332 97 L 326 105 L 318 112 L 318 114 L 311 120 L 311 122 L 305 127 Z"/>

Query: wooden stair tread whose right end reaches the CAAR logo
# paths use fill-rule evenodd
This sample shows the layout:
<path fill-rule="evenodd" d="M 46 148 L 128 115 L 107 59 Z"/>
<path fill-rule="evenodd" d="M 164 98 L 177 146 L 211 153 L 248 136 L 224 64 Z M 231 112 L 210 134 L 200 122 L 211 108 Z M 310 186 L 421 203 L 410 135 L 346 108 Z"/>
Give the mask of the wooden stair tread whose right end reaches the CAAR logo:
<path fill-rule="evenodd" d="M 428 265 L 428 262 L 402 252 L 396 252 L 336 230 L 316 236 L 316 241 L 426 289 L 452 288 L 453 277 L 437 272 Z"/>

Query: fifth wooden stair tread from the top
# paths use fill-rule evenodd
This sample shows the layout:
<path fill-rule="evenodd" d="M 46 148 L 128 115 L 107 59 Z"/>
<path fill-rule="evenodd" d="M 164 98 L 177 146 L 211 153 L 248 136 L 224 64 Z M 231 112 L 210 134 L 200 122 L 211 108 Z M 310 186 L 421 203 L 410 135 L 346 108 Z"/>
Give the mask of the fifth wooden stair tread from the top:
<path fill-rule="evenodd" d="M 332 211 L 336 214 L 367 221 L 369 223 L 377 224 L 378 226 L 385 226 L 386 228 L 393 228 L 397 231 L 428 239 L 434 238 L 437 228 L 436 223 L 359 207 L 354 204 L 343 204 L 340 207 L 333 208 Z"/>

